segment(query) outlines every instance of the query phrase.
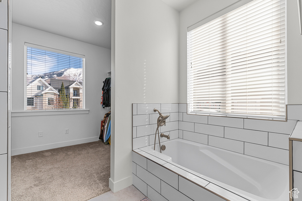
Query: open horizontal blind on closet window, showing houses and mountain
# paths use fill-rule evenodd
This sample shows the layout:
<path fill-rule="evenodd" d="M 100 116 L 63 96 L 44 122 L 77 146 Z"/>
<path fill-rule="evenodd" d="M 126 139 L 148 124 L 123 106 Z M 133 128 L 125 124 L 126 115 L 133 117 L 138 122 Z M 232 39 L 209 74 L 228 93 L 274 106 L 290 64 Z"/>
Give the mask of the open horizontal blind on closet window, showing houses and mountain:
<path fill-rule="evenodd" d="M 84 58 L 26 46 L 26 110 L 84 109 Z"/>

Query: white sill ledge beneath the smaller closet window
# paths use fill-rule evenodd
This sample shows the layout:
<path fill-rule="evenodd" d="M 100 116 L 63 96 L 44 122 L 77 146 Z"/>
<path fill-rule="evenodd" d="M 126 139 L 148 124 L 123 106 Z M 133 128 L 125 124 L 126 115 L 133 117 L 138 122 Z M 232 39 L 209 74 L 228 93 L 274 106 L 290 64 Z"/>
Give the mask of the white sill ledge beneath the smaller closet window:
<path fill-rule="evenodd" d="M 74 115 L 74 114 L 88 114 L 89 110 L 65 110 L 65 111 L 20 111 L 11 112 L 12 117 L 23 116 L 41 116 L 41 115 Z"/>

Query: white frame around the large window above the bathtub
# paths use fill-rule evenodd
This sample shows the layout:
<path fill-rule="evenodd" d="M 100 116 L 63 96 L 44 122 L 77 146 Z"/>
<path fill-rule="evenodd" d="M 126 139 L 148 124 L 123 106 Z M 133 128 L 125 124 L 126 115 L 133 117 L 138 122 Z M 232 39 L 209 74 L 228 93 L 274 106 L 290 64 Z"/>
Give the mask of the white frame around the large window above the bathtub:
<path fill-rule="evenodd" d="M 213 21 L 243 5 L 246 5 L 250 2 L 252 2 L 254 0 L 240 0 L 226 8 L 224 8 L 223 10 L 220 10 L 216 13 L 214 13 L 213 15 L 210 15 L 204 19 L 202 19 L 201 21 L 198 21 L 196 22 L 195 24 L 191 25 L 190 27 L 187 28 L 187 40 L 188 40 L 188 34 L 190 33 L 190 31 L 210 22 L 210 21 Z M 287 41 L 287 23 L 286 23 L 286 15 L 287 15 L 287 10 L 286 10 L 287 6 L 286 6 L 286 0 L 285 0 L 285 40 Z M 226 114 L 217 114 L 217 113 L 210 113 L 210 112 L 203 112 L 203 113 L 200 113 L 200 112 L 191 112 L 190 111 L 190 83 L 189 83 L 189 76 L 190 76 L 190 72 L 189 72 L 189 66 L 190 66 L 190 63 L 189 63 L 189 56 L 188 56 L 188 51 L 187 51 L 187 114 L 190 114 L 190 115 L 205 115 L 205 116 L 217 116 L 217 117 L 231 117 L 231 118 L 249 118 L 249 119 L 261 119 L 261 120 L 270 120 L 270 121 L 287 121 L 287 94 L 288 94 L 288 89 L 287 89 L 287 86 L 288 86 L 288 81 L 287 81 L 287 51 L 286 51 L 286 43 L 285 43 L 285 117 L 284 118 L 278 118 L 278 117 L 263 117 L 263 116 L 257 116 L 257 115 L 248 115 L 248 114 L 232 114 L 232 113 L 226 113 Z M 188 43 L 187 43 L 187 48 L 188 48 Z M 188 50 L 188 49 L 187 49 Z"/>

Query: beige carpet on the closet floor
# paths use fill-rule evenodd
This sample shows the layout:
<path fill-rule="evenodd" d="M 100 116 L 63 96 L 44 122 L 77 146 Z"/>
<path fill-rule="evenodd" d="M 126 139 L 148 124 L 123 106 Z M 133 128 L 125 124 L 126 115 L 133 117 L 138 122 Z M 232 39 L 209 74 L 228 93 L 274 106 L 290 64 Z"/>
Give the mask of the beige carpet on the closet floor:
<path fill-rule="evenodd" d="M 101 141 L 11 157 L 12 201 L 86 201 L 108 192 L 110 145 Z"/>

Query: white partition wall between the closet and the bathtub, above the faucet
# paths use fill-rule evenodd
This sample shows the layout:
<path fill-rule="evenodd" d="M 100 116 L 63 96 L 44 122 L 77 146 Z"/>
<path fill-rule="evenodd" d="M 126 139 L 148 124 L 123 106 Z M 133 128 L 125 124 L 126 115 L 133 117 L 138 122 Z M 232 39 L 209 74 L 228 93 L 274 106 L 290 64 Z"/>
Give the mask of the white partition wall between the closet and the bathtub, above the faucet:
<path fill-rule="evenodd" d="M 116 192 L 132 184 L 132 103 L 178 103 L 179 13 L 161 0 L 114 4 L 115 136 L 109 185 Z"/>

